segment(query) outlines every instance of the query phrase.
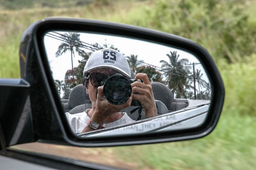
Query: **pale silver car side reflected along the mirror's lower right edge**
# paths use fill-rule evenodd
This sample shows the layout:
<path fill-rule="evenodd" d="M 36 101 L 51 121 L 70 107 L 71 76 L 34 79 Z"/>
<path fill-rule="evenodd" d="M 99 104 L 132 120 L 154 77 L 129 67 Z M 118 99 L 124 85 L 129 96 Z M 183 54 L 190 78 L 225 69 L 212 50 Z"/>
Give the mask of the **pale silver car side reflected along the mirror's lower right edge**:
<path fill-rule="evenodd" d="M 198 127 L 204 123 L 209 111 L 210 100 L 188 100 L 188 107 L 169 112 L 147 120 L 140 120 L 130 125 L 106 128 L 97 132 L 80 134 L 81 137 L 102 137 L 113 135 L 145 134 Z"/>

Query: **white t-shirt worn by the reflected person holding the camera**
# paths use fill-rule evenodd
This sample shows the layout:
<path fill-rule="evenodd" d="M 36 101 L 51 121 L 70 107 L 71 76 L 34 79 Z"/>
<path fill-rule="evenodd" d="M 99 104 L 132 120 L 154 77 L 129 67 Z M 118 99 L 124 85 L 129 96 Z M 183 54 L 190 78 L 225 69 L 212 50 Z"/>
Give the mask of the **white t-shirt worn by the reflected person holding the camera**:
<path fill-rule="evenodd" d="M 76 114 L 70 114 L 69 112 L 65 112 L 65 114 L 66 114 L 68 123 L 69 123 L 70 127 L 72 128 L 72 130 L 75 134 L 81 133 L 82 130 L 84 129 L 84 127 L 87 126 L 88 121 L 90 120 L 86 111 L 79 112 L 79 113 L 76 113 Z M 120 113 L 120 114 L 124 114 L 122 116 L 122 118 L 120 118 L 119 120 L 113 121 L 111 123 L 105 123 L 105 124 L 103 124 L 103 127 L 104 128 L 116 127 L 118 125 L 125 125 L 127 123 L 135 122 L 135 120 L 132 120 L 127 115 L 126 112 Z"/>

